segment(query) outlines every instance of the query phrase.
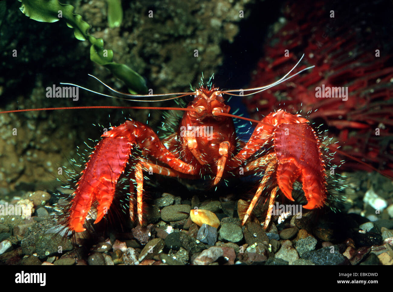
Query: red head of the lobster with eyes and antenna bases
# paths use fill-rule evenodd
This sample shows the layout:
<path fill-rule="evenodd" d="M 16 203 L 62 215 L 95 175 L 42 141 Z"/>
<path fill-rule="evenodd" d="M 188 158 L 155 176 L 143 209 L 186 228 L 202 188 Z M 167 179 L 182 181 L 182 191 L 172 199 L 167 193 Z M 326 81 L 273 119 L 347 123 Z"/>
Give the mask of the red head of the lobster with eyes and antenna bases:
<path fill-rule="evenodd" d="M 216 115 L 217 113 L 229 113 L 230 106 L 225 104 L 224 98 L 218 88 L 204 88 L 196 89 L 195 98 L 188 105 L 194 111 L 189 111 L 191 118 L 202 121 L 205 118 L 213 118 L 215 120 L 222 120 L 224 117 Z"/>

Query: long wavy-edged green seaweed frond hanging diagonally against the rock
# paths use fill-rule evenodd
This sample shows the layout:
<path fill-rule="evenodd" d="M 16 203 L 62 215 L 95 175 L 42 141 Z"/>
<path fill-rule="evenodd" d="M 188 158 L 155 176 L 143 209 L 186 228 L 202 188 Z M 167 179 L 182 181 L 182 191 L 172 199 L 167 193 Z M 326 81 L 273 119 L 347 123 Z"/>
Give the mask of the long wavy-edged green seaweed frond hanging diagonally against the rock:
<path fill-rule="evenodd" d="M 130 93 L 147 92 L 146 82 L 134 70 L 125 64 L 113 62 L 113 51 L 104 49 L 102 38 L 95 38 L 87 33 L 90 25 L 82 20 L 82 16 L 73 13 L 74 7 L 61 4 L 57 0 L 18 0 L 22 2 L 19 8 L 24 15 L 41 22 L 56 22 L 64 18 L 68 27 L 73 28 L 75 38 L 88 40 L 90 47 L 90 60 L 109 69 L 117 78 L 122 80 Z M 121 6 L 120 6 L 121 7 Z"/>

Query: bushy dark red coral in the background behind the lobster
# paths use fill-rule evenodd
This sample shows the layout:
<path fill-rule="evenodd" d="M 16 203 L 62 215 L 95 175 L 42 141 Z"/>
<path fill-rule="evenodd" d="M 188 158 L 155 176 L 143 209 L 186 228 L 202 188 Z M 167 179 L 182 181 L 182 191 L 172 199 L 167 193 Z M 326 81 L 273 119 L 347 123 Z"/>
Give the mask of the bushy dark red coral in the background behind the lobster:
<path fill-rule="evenodd" d="M 329 135 L 343 145 L 345 153 L 378 168 L 393 169 L 393 46 L 388 37 L 391 26 L 386 29 L 370 19 L 368 12 L 373 3 L 359 4 L 353 7 L 356 11 L 343 18 L 342 12 L 348 9 L 343 4 L 325 7 L 321 2 L 306 2 L 288 2 L 283 6 L 286 22 L 270 33 L 264 46 L 266 57 L 259 61 L 251 87 L 285 75 L 302 53 L 305 58 L 299 69 L 310 65 L 315 68 L 246 99 L 250 114 L 259 119 L 260 113 L 266 115 L 277 108 L 292 113 L 311 111 L 309 119 L 322 122 Z M 331 10 L 335 11 L 335 18 L 330 17 Z M 377 49 L 380 57 L 376 57 Z M 289 50 L 287 57 L 285 50 Z M 325 88 L 348 87 L 348 99 L 316 98 L 316 88 L 323 84 Z M 379 135 L 376 128 L 380 129 Z M 335 162 L 341 159 L 338 157 Z M 345 159 L 344 168 L 365 169 L 362 164 Z"/>

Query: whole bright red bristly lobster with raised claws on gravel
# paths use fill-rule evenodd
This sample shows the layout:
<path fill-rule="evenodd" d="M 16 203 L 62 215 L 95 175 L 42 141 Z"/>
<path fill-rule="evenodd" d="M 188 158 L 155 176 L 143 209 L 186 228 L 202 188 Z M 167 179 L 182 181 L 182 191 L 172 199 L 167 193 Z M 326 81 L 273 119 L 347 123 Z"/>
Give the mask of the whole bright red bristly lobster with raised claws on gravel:
<path fill-rule="evenodd" d="M 250 93 L 254 94 L 255 91 L 266 90 L 312 67 L 287 77 L 294 69 L 292 68 L 284 77 L 272 84 L 245 91 L 254 91 Z M 208 84 L 211 84 L 211 80 Z M 132 221 L 137 215 L 142 226 L 145 224 L 143 172 L 188 179 L 211 175 L 213 185 L 219 184 L 222 177 L 264 172 L 257 192 L 244 214 L 242 224 L 250 217 L 273 172 L 275 186 L 270 191 L 270 209 L 278 189 L 285 197 L 294 201 L 292 186 L 295 181 L 303 184 L 308 202 L 304 208 L 314 209 L 323 206 L 326 201 L 325 163 L 320 141 L 309 125 L 309 120 L 279 110 L 270 113 L 261 121 L 253 120 L 257 122 L 255 130 L 248 142 L 242 142 L 236 137 L 232 120 L 237 116 L 230 114 L 230 107 L 225 104 L 223 98 L 224 94 L 236 95 L 233 91 L 239 90 L 220 91 L 214 86 L 201 86 L 192 93 L 175 93 L 180 96 L 194 95 L 195 98 L 187 108 L 182 109 L 185 112 L 178 132 L 162 140 L 152 128 L 135 120 L 127 120 L 104 133 L 101 136 L 103 139 L 95 146 L 77 182 L 67 227 L 75 232 L 84 231 L 84 222 L 93 203 L 97 203 L 97 217 L 94 223 L 101 221 L 110 208 L 116 184 L 125 172 L 127 164 L 132 164 L 130 177 L 136 184 L 136 190 L 133 184 L 130 186 L 129 214 Z M 242 90 L 240 91 L 242 93 Z M 264 153 L 264 148 L 271 141 L 273 151 Z M 138 157 L 132 155 L 136 148 L 141 151 Z M 259 155 L 255 156 L 255 153 Z M 268 214 L 265 228 L 269 221 Z"/>

